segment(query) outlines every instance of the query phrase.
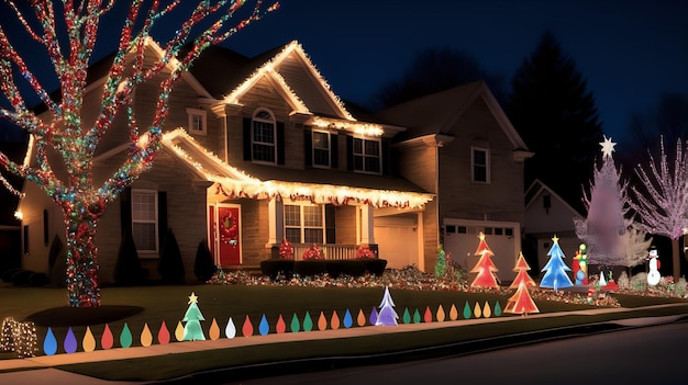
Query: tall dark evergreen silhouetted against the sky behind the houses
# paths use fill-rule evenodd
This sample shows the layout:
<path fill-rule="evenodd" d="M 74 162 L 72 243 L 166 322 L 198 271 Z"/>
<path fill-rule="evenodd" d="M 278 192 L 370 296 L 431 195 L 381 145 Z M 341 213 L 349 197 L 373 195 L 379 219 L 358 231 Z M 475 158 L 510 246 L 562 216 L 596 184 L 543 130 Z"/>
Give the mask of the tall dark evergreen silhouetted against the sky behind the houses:
<path fill-rule="evenodd" d="M 509 120 L 535 155 L 525 161 L 525 185 L 540 179 L 569 202 L 590 180 L 601 124 L 587 82 L 551 31 L 518 68 L 504 103 Z M 567 178 L 558 171 L 566 170 Z"/>

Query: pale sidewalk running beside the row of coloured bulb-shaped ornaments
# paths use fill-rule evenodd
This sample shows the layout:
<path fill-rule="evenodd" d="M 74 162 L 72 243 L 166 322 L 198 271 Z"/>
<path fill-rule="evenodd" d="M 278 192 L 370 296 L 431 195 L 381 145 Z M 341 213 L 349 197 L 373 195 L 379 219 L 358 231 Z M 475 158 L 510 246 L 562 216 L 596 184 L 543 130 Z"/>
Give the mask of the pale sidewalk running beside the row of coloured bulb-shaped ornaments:
<path fill-rule="evenodd" d="M 666 304 L 643 307 L 642 309 L 652 309 L 659 307 L 684 306 L 684 304 Z M 565 313 L 548 313 L 548 314 L 533 314 L 529 315 L 529 318 L 542 318 L 542 317 L 558 317 L 563 315 L 597 315 L 604 313 L 615 312 L 629 312 L 629 308 L 600 308 L 590 310 L 578 312 L 565 312 Z M 664 317 L 645 317 L 645 318 L 626 318 L 613 324 L 623 327 L 641 327 L 650 325 L 658 325 L 675 321 L 681 318 L 681 315 L 664 316 Z M 379 333 L 398 333 L 407 331 L 418 331 L 426 329 L 437 328 L 454 328 L 475 324 L 486 322 L 507 322 L 522 319 L 521 317 L 492 317 L 492 318 L 471 318 L 462 320 L 448 320 L 443 322 L 421 322 L 421 324 L 401 324 L 398 326 L 366 326 L 356 327 L 351 329 L 328 329 L 321 331 L 309 332 L 285 332 L 285 333 L 270 333 L 267 336 L 251 336 L 251 337 L 236 337 L 233 339 L 221 338 L 218 340 L 206 341 L 184 341 L 171 342 L 167 344 L 153 344 L 151 347 L 132 347 L 132 348 L 118 348 L 109 350 L 96 350 L 92 352 L 76 352 L 76 353 L 62 353 L 55 355 L 40 355 L 27 359 L 13 359 L 13 360 L 0 360 L 0 384 L 3 385 L 23 385 L 23 384 L 144 384 L 144 382 L 112 382 L 106 380 L 99 380 L 93 377 L 84 376 L 80 374 L 74 374 L 65 371 L 54 369 L 56 365 L 85 363 L 85 362 L 98 362 L 98 361 L 112 361 L 112 360 L 125 360 L 135 358 L 145 358 L 153 355 L 165 355 L 176 353 L 187 353 L 200 350 L 212 349 L 226 349 L 245 346 L 256 346 L 266 343 L 280 343 L 291 341 L 306 341 L 306 340 L 319 340 L 319 339 L 336 339 L 346 337 L 362 337 Z"/>

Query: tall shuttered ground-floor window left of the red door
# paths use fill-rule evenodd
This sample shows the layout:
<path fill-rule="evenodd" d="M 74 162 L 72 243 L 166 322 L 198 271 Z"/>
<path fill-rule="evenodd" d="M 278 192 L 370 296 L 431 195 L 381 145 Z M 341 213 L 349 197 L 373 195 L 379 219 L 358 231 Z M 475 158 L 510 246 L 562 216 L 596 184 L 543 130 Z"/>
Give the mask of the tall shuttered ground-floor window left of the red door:
<path fill-rule="evenodd" d="M 157 226 L 157 191 L 132 190 L 132 236 L 136 250 L 158 250 Z"/>

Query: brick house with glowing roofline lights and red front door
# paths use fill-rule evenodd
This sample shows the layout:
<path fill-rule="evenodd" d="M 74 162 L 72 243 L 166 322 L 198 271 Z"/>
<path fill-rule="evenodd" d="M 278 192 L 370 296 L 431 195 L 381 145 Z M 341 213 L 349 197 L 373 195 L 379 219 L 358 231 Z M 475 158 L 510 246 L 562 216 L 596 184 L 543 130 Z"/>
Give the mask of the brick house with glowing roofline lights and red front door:
<path fill-rule="evenodd" d="M 154 42 L 147 44 L 149 55 L 162 55 Z M 98 113 L 106 76 L 98 68 L 89 72 L 85 121 Z M 142 127 L 152 121 L 156 84 L 135 90 Z M 432 268 L 434 249 L 423 235 L 436 233 L 424 213 L 434 189 L 390 172 L 389 144 L 404 129 L 354 116 L 297 42 L 253 58 L 210 47 L 169 97 L 163 148 L 152 170 L 111 203 L 99 222 L 99 279 L 112 280 L 125 231 L 132 231 L 142 264 L 156 278 L 167 228 L 175 234 L 188 279 L 202 240 L 225 268 L 257 268 L 278 257 L 285 238 L 297 259 L 313 244 L 329 259 L 355 258 L 359 246 L 369 246 L 388 259 L 388 267 L 415 263 L 423 269 L 431 261 Z M 102 138 L 93 159 L 95 183 L 127 156 L 127 135 L 120 125 Z M 495 140 L 500 144 L 490 143 L 492 158 L 501 158 L 503 138 Z M 501 167 L 501 160 L 495 162 Z M 513 172 L 511 178 L 522 180 L 520 168 Z M 492 180 L 502 183 L 501 177 Z M 35 184 L 27 183 L 24 192 L 19 205 L 22 264 L 47 271 L 48 244 L 55 235 L 64 237 L 62 213 Z M 506 218 L 515 223 L 520 217 Z"/>

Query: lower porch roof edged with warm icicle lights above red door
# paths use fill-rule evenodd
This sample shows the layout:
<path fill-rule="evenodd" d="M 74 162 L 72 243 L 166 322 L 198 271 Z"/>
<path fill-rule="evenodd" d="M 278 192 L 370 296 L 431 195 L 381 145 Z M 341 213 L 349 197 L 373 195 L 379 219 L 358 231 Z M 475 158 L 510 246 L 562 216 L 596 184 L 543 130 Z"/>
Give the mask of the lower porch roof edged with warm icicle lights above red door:
<path fill-rule="evenodd" d="M 224 163 L 184 128 L 165 133 L 163 147 L 199 178 L 229 196 L 293 199 L 315 203 L 366 202 L 376 207 L 421 208 L 433 199 L 411 182 L 392 177 L 336 170 L 292 170 L 248 163 L 246 170 Z"/>

